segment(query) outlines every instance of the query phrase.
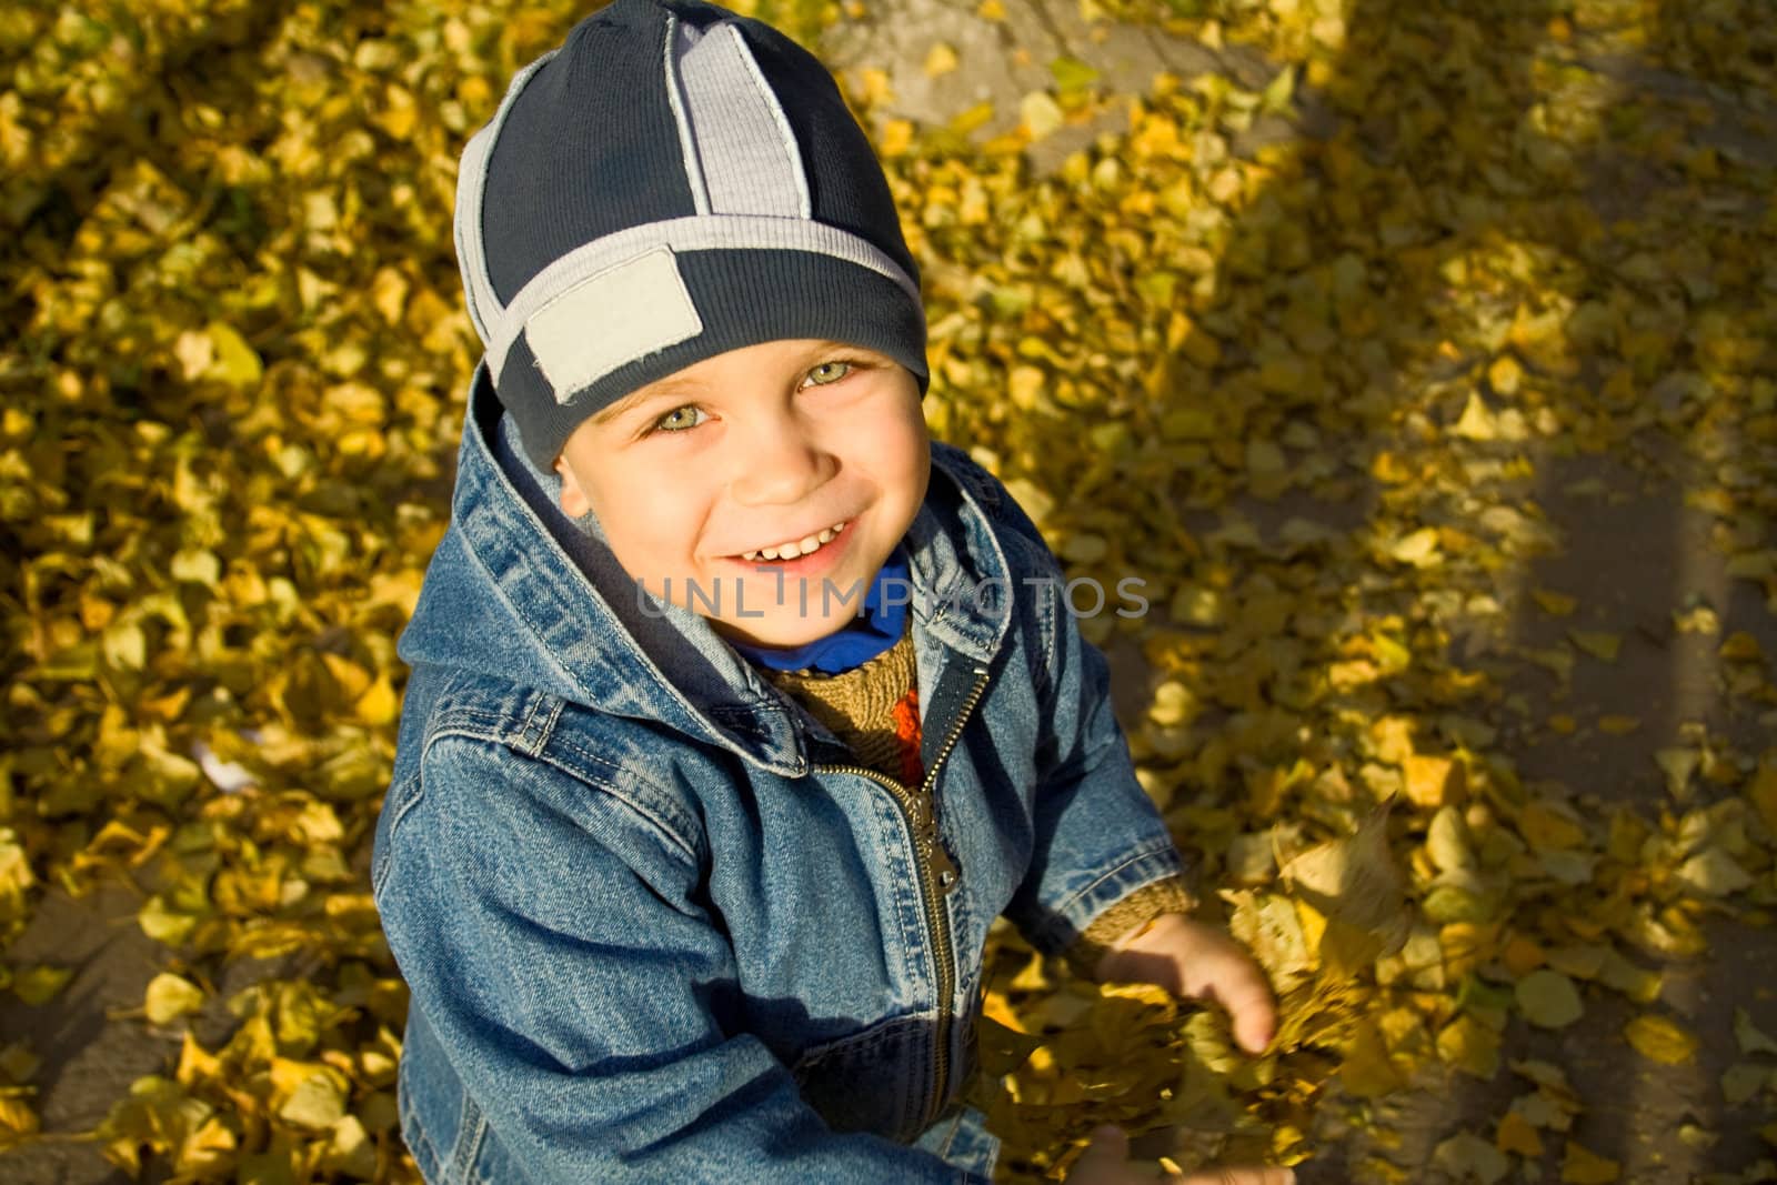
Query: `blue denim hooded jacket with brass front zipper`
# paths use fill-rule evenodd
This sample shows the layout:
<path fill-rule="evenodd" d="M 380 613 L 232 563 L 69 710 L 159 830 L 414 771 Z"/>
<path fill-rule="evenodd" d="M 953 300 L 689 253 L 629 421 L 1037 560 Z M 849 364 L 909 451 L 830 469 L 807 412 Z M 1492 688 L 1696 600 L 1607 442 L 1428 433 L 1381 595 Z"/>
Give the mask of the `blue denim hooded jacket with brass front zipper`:
<path fill-rule="evenodd" d="M 999 1144 L 956 1103 L 988 927 L 1056 952 L 1180 872 L 1036 528 L 933 444 L 908 791 L 641 600 L 499 433 L 478 371 L 371 871 L 419 1169 L 988 1180 Z"/>

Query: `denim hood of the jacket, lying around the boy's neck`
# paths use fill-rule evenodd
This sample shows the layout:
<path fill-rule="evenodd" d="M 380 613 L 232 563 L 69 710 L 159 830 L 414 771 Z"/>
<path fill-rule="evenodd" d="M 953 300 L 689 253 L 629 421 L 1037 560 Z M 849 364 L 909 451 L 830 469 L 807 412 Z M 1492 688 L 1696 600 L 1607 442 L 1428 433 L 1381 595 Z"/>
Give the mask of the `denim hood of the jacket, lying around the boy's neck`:
<path fill-rule="evenodd" d="M 1009 597 L 967 590 L 995 579 L 1004 588 L 1008 565 L 951 471 L 958 457 L 933 444 L 933 481 L 906 535 L 908 611 L 945 647 L 986 663 L 1006 634 Z M 558 494 L 560 480 L 524 457 L 485 366 L 476 368 L 451 522 L 400 657 L 665 725 L 771 773 L 805 775 L 789 702 L 707 620 L 640 593 L 597 524 L 569 519 Z"/>

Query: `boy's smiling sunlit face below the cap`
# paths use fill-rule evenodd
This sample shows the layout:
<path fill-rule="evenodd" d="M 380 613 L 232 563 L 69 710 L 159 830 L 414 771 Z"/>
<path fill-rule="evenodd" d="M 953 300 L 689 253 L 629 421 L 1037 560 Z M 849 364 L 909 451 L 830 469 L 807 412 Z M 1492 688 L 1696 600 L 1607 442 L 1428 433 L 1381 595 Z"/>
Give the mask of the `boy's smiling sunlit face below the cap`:
<path fill-rule="evenodd" d="M 652 597 L 796 647 L 853 620 L 926 497 L 931 449 L 899 362 L 766 341 L 618 400 L 574 430 L 556 473 L 562 510 L 594 512 Z"/>

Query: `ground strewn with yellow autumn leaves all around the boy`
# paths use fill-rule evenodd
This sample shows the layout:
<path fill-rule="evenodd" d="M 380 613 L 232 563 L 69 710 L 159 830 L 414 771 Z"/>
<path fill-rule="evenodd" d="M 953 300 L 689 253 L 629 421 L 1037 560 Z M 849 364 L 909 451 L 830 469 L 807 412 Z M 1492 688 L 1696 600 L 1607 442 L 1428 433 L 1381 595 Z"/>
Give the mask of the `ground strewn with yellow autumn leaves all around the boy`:
<path fill-rule="evenodd" d="M 0 1171 L 414 1180 L 364 869 L 476 355 L 455 158 L 579 14 L 0 12 Z M 1148 581 L 1084 625 L 1283 1032 L 1244 1059 L 1002 934 L 974 1093 L 1008 1178 L 1107 1119 L 1303 1180 L 1777 1178 L 1766 7 L 1068 14 L 1068 52 L 1000 43 L 1045 85 L 942 121 L 867 36 L 841 76 L 935 432 L 1073 574 Z M 1095 68 L 1128 27 L 1228 68 Z M 44 929 L 119 883 L 151 966 L 94 1023 L 151 1064 L 59 1126 L 37 1018 L 91 966 Z"/>

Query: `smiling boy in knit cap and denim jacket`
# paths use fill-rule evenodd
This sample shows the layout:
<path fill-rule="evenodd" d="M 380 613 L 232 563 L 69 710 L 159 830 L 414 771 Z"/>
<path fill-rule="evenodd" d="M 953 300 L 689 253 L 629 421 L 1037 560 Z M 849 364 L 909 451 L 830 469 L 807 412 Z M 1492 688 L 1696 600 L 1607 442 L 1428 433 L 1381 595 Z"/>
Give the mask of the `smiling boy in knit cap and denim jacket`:
<path fill-rule="evenodd" d="M 373 867 L 426 1180 L 986 1180 L 1002 913 L 1263 1048 L 1054 558 L 926 437 L 915 266 L 812 57 L 617 0 L 469 142 L 457 247 L 487 357 Z"/>

